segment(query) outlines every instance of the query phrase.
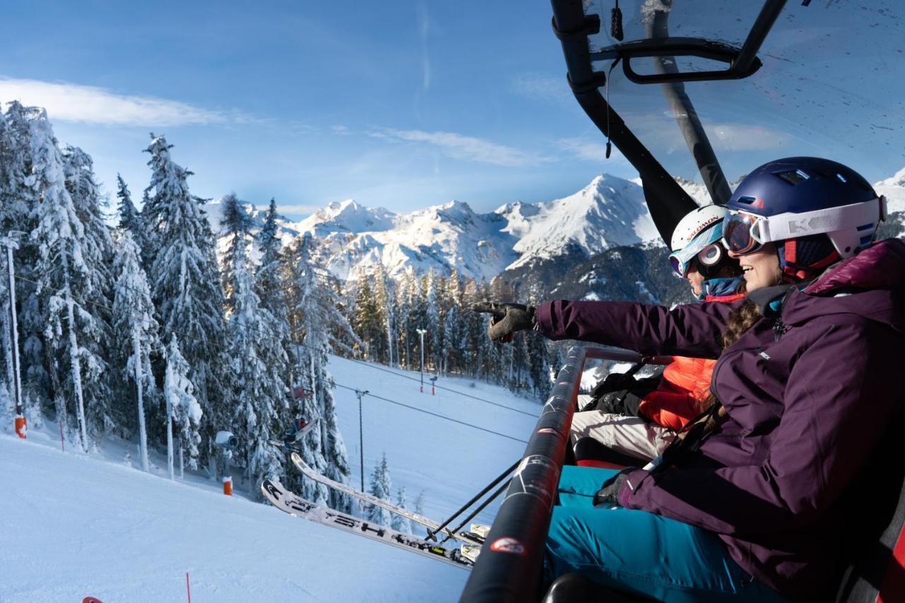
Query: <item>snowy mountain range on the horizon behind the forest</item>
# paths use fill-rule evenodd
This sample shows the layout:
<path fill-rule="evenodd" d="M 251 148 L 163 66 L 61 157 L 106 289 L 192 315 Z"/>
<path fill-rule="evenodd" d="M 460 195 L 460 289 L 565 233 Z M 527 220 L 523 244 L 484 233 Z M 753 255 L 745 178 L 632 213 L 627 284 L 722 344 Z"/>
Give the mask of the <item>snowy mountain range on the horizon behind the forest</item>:
<path fill-rule="evenodd" d="M 699 203 L 707 190 L 689 180 L 677 181 Z M 730 185 L 734 187 L 736 183 Z M 878 182 L 890 212 L 905 211 L 905 168 Z M 260 227 L 264 209 L 247 204 Z M 208 204 L 216 228 L 220 200 Z M 574 195 L 540 203 L 514 202 L 480 214 L 462 201 L 450 201 L 408 214 L 338 201 L 292 222 L 280 218 L 284 243 L 303 233 L 319 241 L 319 259 L 339 279 L 354 279 L 383 263 L 391 276 L 412 268 L 425 273 L 459 273 L 488 281 L 505 271 L 569 256 L 585 260 L 614 246 L 659 244 L 659 235 L 636 181 L 610 175 L 595 177 Z"/>

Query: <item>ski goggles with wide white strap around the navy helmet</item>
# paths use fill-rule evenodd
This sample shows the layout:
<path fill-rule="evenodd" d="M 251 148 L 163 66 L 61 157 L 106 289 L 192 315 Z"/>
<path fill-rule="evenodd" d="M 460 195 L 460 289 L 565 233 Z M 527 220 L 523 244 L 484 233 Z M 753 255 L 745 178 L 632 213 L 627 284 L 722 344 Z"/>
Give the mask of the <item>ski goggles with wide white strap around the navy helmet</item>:
<path fill-rule="evenodd" d="M 729 210 L 723 221 L 723 244 L 731 253 L 745 255 L 755 253 L 764 244 L 799 236 L 834 233 L 847 228 L 872 233 L 886 215 L 885 196 L 848 206 L 770 216 Z"/>

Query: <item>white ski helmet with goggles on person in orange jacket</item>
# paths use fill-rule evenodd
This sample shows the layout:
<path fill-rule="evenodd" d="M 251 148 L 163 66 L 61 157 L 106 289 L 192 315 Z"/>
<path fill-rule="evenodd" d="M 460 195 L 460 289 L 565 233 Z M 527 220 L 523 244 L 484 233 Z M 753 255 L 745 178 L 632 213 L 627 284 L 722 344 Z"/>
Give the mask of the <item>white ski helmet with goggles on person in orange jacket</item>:
<path fill-rule="evenodd" d="M 695 258 L 706 270 L 728 256 L 720 242 L 726 215 L 723 206 L 701 206 L 679 221 L 672 231 L 672 270 L 684 277 L 691 268 L 691 260 Z"/>

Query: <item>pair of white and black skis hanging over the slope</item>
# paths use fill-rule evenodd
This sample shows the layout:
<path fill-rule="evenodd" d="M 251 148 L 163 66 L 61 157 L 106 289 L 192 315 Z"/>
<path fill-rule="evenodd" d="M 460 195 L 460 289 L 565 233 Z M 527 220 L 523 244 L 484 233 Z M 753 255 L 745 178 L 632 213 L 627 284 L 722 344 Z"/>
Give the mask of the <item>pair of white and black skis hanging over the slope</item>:
<path fill-rule="evenodd" d="M 284 445 L 284 443 L 281 442 L 274 442 L 274 444 Z M 290 449 L 292 448 L 292 446 L 287 447 L 289 447 Z M 441 525 L 438 522 L 434 522 L 432 519 L 424 517 L 423 515 L 420 515 L 418 513 L 411 512 L 407 509 L 398 507 L 393 503 L 388 503 L 387 501 L 376 498 L 376 496 L 372 496 L 371 494 L 360 492 L 345 483 L 336 482 L 325 475 L 319 474 L 317 471 L 315 471 L 305 463 L 298 452 L 292 452 L 291 458 L 292 463 L 295 464 L 300 472 L 309 477 L 311 480 L 314 480 L 318 483 L 323 483 L 330 488 L 334 488 L 339 492 L 346 493 L 365 503 L 373 504 L 386 509 L 389 512 L 394 512 L 402 515 L 412 522 L 424 525 L 429 529 L 430 532 L 436 533 L 437 531 L 442 531 L 443 533 L 447 534 L 448 537 L 462 541 L 463 544 L 461 550 L 448 549 L 441 546 L 440 544 L 437 544 L 434 541 L 427 541 L 421 538 L 417 538 L 415 536 L 387 528 L 386 526 L 377 525 L 373 522 L 367 522 L 346 513 L 337 512 L 327 507 L 311 503 L 310 501 L 300 497 L 298 494 L 291 493 L 290 491 L 286 490 L 281 483 L 271 480 L 265 480 L 261 485 L 262 493 L 271 503 L 273 503 L 275 507 L 280 509 L 282 512 L 287 512 L 298 517 L 304 517 L 305 519 L 308 519 L 312 522 L 318 522 L 333 528 L 337 528 L 339 530 L 366 536 L 371 540 L 383 541 L 386 544 L 409 550 L 411 552 L 430 557 L 434 560 L 442 560 L 463 569 L 471 569 L 474 560 L 477 559 L 478 554 L 481 552 L 481 544 L 483 543 L 484 537 L 487 535 L 487 532 L 490 530 L 489 526 L 472 524 L 472 531 L 462 531 L 459 533 L 455 533 L 448 528 L 439 530 L 441 528 Z"/>

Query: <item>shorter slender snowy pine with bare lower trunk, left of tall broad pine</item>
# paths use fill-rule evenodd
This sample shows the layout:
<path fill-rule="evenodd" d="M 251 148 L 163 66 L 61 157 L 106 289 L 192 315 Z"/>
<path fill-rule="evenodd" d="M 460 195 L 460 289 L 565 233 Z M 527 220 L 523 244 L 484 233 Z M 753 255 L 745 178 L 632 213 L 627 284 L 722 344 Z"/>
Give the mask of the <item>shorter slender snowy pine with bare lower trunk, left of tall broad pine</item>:
<path fill-rule="evenodd" d="M 148 471 L 148 429 L 146 402 L 154 399 L 155 382 L 151 373 L 151 353 L 160 349 L 154 304 L 148 288 L 148 277 L 141 268 L 138 245 L 129 230 L 122 233 L 117 244 L 117 275 L 113 287 L 113 316 L 111 321 L 114 358 L 121 374 L 119 395 L 135 400 L 137 422 L 124 421 L 123 426 L 138 424 L 139 462 Z M 129 381 L 132 387 L 129 387 Z M 134 389 L 133 389 L 134 388 Z M 134 396 L 132 395 L 134 393 Z M 148 405 L 150 406 L 150 405 Z"/>

